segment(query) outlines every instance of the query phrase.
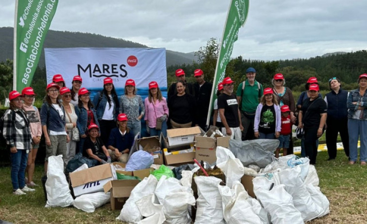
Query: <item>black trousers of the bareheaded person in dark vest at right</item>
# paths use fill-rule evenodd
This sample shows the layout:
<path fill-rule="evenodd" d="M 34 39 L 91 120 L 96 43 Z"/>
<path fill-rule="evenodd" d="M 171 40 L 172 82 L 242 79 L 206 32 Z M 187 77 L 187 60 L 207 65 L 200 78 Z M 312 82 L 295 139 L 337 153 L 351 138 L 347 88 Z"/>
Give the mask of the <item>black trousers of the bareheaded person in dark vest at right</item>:
<path fill-rule="evenodd" d="M 330 159 L 336 158 L 336 141 L 338 133 L 340 133 L 341 141 L 345 154 L 349 157 L 349 134 L 348 134 L 348 118 L 345 119 L 326 119 L 326 146 Z"/>

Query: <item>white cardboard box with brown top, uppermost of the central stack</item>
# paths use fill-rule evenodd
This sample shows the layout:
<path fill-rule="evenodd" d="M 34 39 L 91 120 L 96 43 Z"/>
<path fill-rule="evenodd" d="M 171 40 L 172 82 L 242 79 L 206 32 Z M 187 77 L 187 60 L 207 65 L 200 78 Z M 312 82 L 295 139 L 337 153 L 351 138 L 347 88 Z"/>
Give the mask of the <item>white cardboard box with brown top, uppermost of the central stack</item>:
<path fill-rule="evenodd" d="M 176 128 L 167 130 L 167 142 L 169 147 L 188 145 L 194 142 L 197 134 L 205 134 L 200 127 Z"/>

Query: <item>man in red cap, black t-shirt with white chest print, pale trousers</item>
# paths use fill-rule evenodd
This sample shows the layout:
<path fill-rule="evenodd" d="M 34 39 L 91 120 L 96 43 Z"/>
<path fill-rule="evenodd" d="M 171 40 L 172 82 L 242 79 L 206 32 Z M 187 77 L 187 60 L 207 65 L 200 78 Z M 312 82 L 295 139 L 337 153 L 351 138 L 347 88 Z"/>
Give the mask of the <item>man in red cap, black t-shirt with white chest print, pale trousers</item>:
<path fill-rule="evenodd" d="M 224 126 L 223 134 L 241 140 L 243 127 L 236 95 L 233 94 L 233 83 L 230 77 L 223 79 L 223 93 L 218 97 L 218 109 Z"/>

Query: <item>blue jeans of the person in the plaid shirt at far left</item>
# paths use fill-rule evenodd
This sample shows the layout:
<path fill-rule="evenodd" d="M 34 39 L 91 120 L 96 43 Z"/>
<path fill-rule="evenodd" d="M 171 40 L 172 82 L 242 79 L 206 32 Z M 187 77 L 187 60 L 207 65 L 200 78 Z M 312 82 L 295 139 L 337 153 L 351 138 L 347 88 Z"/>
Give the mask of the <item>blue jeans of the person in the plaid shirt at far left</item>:
<path fill-rule="evenodd" d="M 22 189 L 26 185 L 24 178 L 28 161 L 27 150 L 18 149 L 16 153 L 10 153 L 10 159 L 12 161 L 11 176 L 13 190 L 18 188 Z"/>

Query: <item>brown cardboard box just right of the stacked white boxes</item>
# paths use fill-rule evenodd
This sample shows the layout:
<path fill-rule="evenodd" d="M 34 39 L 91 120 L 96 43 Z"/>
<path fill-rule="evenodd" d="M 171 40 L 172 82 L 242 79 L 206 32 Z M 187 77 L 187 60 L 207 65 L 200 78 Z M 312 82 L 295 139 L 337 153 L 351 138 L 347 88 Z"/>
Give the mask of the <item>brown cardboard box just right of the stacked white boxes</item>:
<path fill-rule="evenodd" d="M 216 148 L 222 146 L 229 148 L 230 136 L 227 137 L 203 137 L 195 136 L 195 159 L 198 161 L 204 160 L 209 164 L 217 161 Z"/>

